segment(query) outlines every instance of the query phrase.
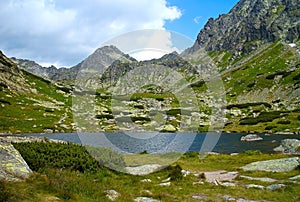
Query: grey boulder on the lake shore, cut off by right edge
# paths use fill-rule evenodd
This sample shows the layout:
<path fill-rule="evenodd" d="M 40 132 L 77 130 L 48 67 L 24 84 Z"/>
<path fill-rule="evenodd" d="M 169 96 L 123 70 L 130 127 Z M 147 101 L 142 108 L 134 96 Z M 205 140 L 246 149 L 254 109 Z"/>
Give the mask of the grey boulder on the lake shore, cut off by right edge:
<path fill-rule="evenodd" d="M 284 153 L 284 154 L 300 155 L 300 140 L 297 139 L 282 140 L 280 146 L 276 147 L 274 151 Z"/>

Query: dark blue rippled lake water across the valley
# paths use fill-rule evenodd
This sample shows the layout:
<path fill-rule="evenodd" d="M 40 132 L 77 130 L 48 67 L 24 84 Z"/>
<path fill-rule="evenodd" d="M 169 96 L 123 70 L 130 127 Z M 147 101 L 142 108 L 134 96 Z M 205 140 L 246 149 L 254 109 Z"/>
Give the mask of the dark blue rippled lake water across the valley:
<path fill-rule="evenodd" d="M 240 153 L 246 150 L 260 150 L 271 153 L 283 139 L 300 139 L 299 135 L 259 134 L 261 141 L 241 142 L 246 134 L 192 134 L 192 133 L 57 133 L 32 134 L 76 144 L 109 147 L 121 153 L 165 153 L 172 151 L 213 151 L 218 153 Z M 28 136 L 28 135 L 26 135 Z M 204 144 L 203 144 L 204 143 Z M 208 145 L 208 146 L 207 146 Z"/>

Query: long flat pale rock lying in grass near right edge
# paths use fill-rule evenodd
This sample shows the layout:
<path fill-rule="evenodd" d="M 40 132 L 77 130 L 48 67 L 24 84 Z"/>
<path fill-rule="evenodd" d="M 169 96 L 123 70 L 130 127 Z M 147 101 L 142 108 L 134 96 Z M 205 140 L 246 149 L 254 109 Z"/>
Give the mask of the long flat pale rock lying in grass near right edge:
<path fill-rule="evenodd" d="M 299 158 L 284 158 L 268 161 L 258 161 L 243 166 L 245 171 L 289 172 L 299 166 Z"/>

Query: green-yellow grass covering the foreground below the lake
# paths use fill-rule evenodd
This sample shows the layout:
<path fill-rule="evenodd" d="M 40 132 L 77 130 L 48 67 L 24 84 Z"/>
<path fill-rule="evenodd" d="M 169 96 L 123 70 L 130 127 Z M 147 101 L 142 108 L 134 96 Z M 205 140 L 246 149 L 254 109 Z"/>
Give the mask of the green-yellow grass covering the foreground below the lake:
<path fill-rule="evenodd" d="M 73 148 L 72 145 L 66 146 Z M 55 154 L 49 152 L 49 155 L 54 156 Z M 138 156 L 145 159 L 147 155 L 135 154 L 125 158 L 134 162 Z M 169 157 L 172 155 L 166 154 L 165 158 Z M 194 172 L 225 169 L 238 171 L 240 175 L 271 177 L 278 180 L 299 175 L 299 170 L 288 173 L 265 173 L 245 172 L 240 169 L 241 166 L 254 161 L 284 157 L 288 156 L 248 151 L 236 156 L 220 154 L 202 155 L 202 158 L 199 158 L 198 153 L 192 152 L 183 155 L 173 165 L 147 176 L 131 176 L 105 168 L 101 168 L 97 172 L 84 173 L 62 167 L 38 169 L 38 172 L 35 172 L 25 182 L 0 182 L 0 199 L 3 201 L 44 201 L 47 197 L 57 197 L 62 201 L 108 201 L 105 197 L 105 190 L 114 189 L 121 194 L 116 201 L 133 201 L 139 196 L 148 196 L 161 201 L 193 201 L 192 196 L 194 195 L 205 195 L 205 201 L 222 201 L 223 195 L 260 201 L 297 201 L 300 199 L 297 194 L 300 191 L 300 186 L 292 183 L 286 183 L 285 189 L 276 191 L 246 189 L 245 184 L 255 182 L 267 186 L 270 183 L 249 181 L 239 177 L 236 179 L 237 187 L 214 186 L 206 182 L 203 185 L 192 185 L 193 182 L 198 182 L 201 176 L 188 175 L 183 177 L 180 174 L 181 169 Z M 170 187 L 157 186 L 168 177 L 171 177 Z M 151 179 L 152 182 L 141 182 L 145 178 Z"/>

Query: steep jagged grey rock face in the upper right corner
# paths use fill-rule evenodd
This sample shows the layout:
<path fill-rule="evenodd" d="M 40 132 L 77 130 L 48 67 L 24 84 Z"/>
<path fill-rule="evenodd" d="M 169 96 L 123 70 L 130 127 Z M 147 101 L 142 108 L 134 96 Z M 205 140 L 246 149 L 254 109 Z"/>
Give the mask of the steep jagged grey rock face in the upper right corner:
<path fill-rule="evenodd" d="M 299 9 L 298 0 L 241 0 L 228 14 L 209 19 L 186 52 L 247 53 L 264 42 L 293 42 L 300 35 Z"/>

